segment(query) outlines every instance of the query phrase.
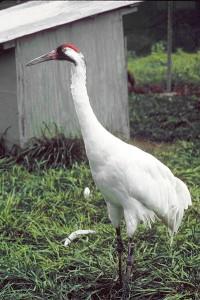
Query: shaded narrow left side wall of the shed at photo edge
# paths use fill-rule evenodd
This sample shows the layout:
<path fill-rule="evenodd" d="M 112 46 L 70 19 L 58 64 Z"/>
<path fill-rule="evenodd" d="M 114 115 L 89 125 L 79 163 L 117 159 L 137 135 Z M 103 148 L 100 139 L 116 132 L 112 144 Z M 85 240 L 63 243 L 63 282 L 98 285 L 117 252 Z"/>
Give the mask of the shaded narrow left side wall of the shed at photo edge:
<path fill-rule="evenodd" d="M 0 54 L 0 135 L 5 136 L 8 146 L 19 143 L 17 86 L 14 48 Z"/>

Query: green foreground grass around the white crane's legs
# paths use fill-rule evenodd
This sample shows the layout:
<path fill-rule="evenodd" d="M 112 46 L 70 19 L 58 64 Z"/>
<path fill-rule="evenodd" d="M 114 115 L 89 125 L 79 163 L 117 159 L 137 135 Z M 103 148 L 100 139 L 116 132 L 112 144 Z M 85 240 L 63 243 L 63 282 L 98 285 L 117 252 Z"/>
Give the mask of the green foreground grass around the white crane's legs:
<path fill-rule="evenodd" d="M 138 228 L 131 299 L 197 300 L 200 150 L 180 142 L 151 152 L 187 182 L 193 206 L 172 248 L 163 225 Z M 65 248 L 63 239 L 77 229 L 96 234 Z M 28 172 L 1 160 L 0 232 L 0 299 L 120 299 L 114 229 L 87 164 Z"/>

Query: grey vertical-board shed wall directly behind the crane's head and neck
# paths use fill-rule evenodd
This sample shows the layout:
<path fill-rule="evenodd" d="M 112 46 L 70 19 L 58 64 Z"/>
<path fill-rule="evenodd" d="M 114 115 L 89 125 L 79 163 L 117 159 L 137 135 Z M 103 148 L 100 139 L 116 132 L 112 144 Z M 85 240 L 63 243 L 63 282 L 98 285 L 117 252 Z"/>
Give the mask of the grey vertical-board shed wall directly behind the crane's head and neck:
<path fill-rule="evenodd" d="M 119 11 L 90 17 L 17 42 L 17 80 L 21 144 L 40 135 L 43 122 L 54 122 L 67 136 L 80 135 L 70 93 L 70 64 L 25 63 L 63 42 L 80 47 L 87 64 L 91 105 L 110 131 L 129 136 L 127 79 L 122 19 Z"/>

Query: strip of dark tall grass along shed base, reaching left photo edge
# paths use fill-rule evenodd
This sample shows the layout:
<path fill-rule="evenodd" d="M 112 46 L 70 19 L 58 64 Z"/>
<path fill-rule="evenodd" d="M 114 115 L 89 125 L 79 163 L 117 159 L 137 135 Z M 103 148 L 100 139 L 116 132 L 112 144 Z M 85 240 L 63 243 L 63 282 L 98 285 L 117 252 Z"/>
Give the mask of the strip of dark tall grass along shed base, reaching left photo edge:
<path fill-rule="evenodd" d="M 87 161 L 83 140 L 66 138 L 63 133 L 59 133 L 56 125 L 53 131 L 45 125 L 41 137 L 30 139 L 24 148 L 13 145 L 8 149 L 4 136 L 0 138 L 0 157 L 5 158 L 7 166 L 18 163 L 31 171 L 49 167 L 68 168 L 74 163 Z"/>

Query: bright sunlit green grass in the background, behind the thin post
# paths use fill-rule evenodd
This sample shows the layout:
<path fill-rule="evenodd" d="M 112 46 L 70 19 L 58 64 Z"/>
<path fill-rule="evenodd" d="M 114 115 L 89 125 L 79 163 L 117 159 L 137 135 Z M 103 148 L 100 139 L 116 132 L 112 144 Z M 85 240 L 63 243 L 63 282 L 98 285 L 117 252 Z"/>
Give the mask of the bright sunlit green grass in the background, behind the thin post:
<path fill-rule="evenodd" d="M 131 57 L 128 59 L 128 69 L 134 74 L 138 85 L 166 84 L 167 55 L 162 43 L 152 49 L 145 57 Z M 178 49 L 172 54 L 172 82 L 178 84 L 194 84 L 200 82 L 200 51 L 186 53 Z"/>

